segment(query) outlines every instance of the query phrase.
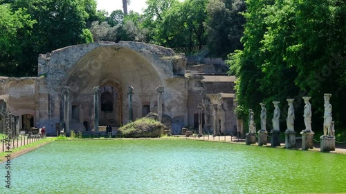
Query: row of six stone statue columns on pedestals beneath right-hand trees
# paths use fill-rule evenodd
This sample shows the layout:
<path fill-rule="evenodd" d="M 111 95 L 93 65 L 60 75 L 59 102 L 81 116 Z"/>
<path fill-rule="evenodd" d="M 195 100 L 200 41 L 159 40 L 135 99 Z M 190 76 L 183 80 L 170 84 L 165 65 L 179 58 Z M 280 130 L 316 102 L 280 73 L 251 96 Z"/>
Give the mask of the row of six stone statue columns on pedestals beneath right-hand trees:
<path fill-rule="evenodd" d="M 321 151 L 334 151 L 335 150 L 335 133 L 334 133 L 334 122 L 332 122 L 331 117 L 331 104 L 329 103 L 329 99 L 331 94 L 325 94 L 325 113 L 324 113 L 324 123 L 323 123 L 323 135 L 320 137 L 321 140 Z M 309 99 L 311 97 L 302 97 L 304 99 L 304 125 L 305 129 L 302 130 L 300 134 L 302 134 L 302 150 L 307 150 L 309 148 L 313 148 L 313 131 L 311 130 L 311 104 L 309 103 Z M 289 108 L 287 111 L 286 117 L 286 126 L 285 130 L 285 146 L 286 148 L 294 148 L 295 147 L 295 130 L 294 130 L 294 99 L 286 99 L 289 104 Z M 271 130 L 271 146 L 280 146 L 280 101 L 273 101 L 275 110 L 273 114 L 273 130 Z M 265 104 L 260 103 L 262 108 L 261 110 L 261 130 L 258 131 L 258 145 L 262 146 L 267 144 L 267 131 L 266 131 L 266 108 Z M 255 144 L 256 143 L 256 130 L 255 123 L 253 117 L 253 111 L 249 110 L 249 133 L 246 134 L 246 144 Z"/>

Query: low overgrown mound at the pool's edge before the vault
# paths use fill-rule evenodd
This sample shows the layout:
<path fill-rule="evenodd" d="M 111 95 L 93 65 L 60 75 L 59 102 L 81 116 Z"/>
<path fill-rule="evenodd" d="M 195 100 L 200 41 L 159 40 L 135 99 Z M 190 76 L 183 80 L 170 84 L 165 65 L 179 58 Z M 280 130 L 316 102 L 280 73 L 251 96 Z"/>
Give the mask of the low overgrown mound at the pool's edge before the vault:
<path fill-rule="evenodd" d="M 124 137 L 161 137 L 165 126 L 158 122 L 158 115 L 156 115 L 149 113 L 146 117 L 120 127 L 119 131 Z"/>

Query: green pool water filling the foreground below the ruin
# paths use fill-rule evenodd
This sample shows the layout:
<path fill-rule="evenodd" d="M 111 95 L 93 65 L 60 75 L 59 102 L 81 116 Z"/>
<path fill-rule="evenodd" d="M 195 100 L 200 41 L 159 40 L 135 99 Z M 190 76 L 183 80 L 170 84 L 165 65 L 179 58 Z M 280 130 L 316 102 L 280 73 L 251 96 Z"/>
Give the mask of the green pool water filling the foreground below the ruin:
<path fill-rule="evenodd" d="M 196 140 L 55 141 L 11 163 L 0 193 L 346 192 L 346 155 Z"/>

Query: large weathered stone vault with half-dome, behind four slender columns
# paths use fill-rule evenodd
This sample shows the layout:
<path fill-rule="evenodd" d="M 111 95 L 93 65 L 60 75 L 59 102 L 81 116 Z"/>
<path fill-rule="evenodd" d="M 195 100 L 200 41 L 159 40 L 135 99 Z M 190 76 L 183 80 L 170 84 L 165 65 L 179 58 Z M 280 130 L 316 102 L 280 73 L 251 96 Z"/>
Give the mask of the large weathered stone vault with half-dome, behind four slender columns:
<path fill-rule="evenodd" d="M 71 88 L 69 126 L 84 130 L 93 128 L 95 86 L 100 87 L 100 126 L 128 122 L 128 86 L 134 88 L 134 119 L 142 117 L 148 107 L 151 112 L 157 111 L 155 89 L 164 86 L 163 114 L 171 118 L 172 126 L 181 128 L 187 117 L 185 64 L 185 57 L 169 48 L 128 41 L 69 46 L 40 55 L 39 76 L 46 78 L 49 120 L 58 123 L 64 117 L 64 86 Z"/>

